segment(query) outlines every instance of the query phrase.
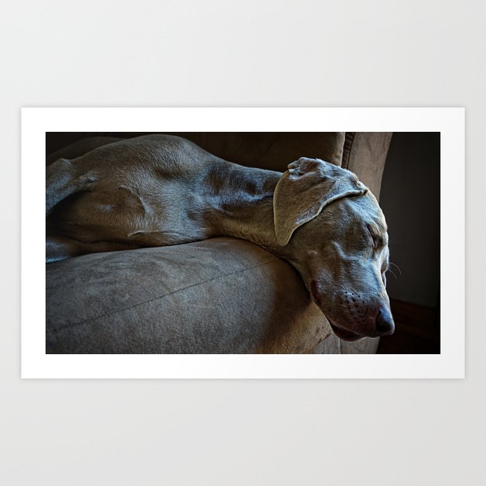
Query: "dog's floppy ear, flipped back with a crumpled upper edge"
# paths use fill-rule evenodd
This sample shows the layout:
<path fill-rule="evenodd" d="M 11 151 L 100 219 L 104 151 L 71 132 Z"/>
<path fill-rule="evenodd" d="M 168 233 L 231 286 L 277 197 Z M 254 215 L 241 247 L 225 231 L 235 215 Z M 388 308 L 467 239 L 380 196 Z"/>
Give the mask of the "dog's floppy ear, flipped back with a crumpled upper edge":
<path fill-rule="evenodd" d="M 277 242 L 285 246 L 292 233 L 315 218 L 327 204 L 344 196 L 359 196 L 367 187 L 349 170 L 324 160 L 299 158 L 288 166 L 274 192 Z"/>

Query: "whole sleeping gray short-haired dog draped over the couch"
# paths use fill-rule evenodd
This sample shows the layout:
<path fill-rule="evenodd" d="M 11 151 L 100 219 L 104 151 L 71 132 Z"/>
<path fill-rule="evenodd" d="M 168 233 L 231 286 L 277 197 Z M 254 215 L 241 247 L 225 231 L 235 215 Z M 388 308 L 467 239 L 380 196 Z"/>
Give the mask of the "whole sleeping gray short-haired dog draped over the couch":
<path fill-rule="evenodd" d="M 244 238 L 299 271 L 337 336 L 394 332 L 383 212 L 355 174 L 323 160 L 300 158 L 281 174 L 146 135 L 53 162 L 46 206 L 47 262 Z"/>

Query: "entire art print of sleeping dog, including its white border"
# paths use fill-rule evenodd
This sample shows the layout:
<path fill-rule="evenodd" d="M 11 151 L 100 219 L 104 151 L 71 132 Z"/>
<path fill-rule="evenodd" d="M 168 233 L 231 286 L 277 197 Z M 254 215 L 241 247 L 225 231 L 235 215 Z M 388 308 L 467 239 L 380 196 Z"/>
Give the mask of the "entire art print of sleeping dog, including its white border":
<path fill-rule="evenodd" d="M 25 108 L 24 270 L 45 316 L 22 328 L 26 376 L 460 373 L 441 194 L 463 116 Z"/>

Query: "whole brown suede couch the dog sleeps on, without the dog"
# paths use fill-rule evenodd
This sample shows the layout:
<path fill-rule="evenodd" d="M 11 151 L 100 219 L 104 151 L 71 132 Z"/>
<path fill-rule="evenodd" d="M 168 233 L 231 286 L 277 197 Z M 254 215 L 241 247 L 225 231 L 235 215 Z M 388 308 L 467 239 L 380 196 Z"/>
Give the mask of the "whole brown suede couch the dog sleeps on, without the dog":
<path fill-rule="evenodd" d="M 47 133 L 47 163 L 137 135 Z M 265 169 L 285 171 L 301 156 L 328 160 L 358 174 L 377 197 L 392 137 L 176 135 L 231 162 Z M 370 338 L 342 342 L 289 263 L 230 237 L 54 262 L 46 267 L 46 291 L 47 353 L 374 353 L 378 346 Z"/>

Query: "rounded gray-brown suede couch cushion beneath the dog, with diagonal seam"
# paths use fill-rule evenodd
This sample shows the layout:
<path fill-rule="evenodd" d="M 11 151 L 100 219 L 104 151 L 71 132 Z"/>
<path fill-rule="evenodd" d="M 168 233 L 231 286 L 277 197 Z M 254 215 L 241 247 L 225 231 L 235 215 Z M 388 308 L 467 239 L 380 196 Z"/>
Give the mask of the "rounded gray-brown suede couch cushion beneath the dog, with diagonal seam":
<path fill-rule="evenodd" d="M 47 353 L 304 353 L 330 333 L 293 267 L 244 240 L 47 265 Z"/>

